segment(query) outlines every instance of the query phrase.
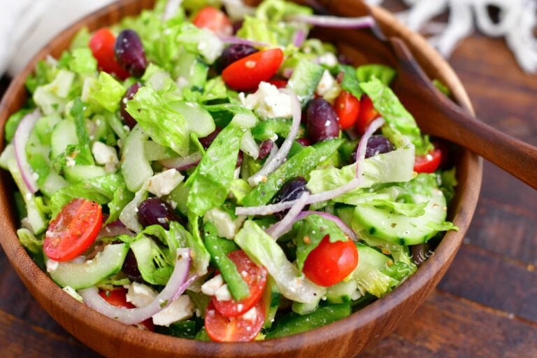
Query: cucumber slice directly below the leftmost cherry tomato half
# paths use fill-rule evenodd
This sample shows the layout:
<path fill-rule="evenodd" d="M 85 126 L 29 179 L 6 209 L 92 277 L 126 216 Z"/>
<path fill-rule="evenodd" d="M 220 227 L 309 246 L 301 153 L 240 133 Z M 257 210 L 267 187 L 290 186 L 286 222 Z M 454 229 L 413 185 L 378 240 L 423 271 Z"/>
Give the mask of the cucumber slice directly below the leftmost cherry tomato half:
<path fill-rule="evenodd" d="M 107 245 L 91 260 L 83 263 L 58 262 L 57 267 L 49 269 L 48 273 L 60 287 L 92 287 L 121 270 L 128 250 L 126 243 Z"/>

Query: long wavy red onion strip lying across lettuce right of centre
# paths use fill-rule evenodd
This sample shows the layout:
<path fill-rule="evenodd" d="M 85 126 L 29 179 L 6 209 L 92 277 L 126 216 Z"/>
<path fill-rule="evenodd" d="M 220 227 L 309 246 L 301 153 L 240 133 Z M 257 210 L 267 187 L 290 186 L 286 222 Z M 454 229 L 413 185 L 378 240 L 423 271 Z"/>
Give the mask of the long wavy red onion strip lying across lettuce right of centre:
<path fill-rule="evenodd" d="M 350 192 L 352 189 L 356 189 L 362 184 L 362 177 L 364 176 L 364 160 L 366 158 L 367 142 L 369 138 L 377 131 L 382 125 L 385 124 L 385 120 L 382 117 L 377 118 L 371 124 L 369 124 L 366 133 L 361 137 L 358 145 L 357 162 L 356 162 L 356 176 L 350 180 L 347 184 L 337 187 L 336 189 L 329 190 L 327 192 L 317 193 L 310 196 L 306 204 L 320 203 L 322 201 L 329 201 Z M 278 211 L 286 210 L 294 206 L 296 201 L 284 201 L 282 203 L 276 203 L 264 206 L 248 206 L 238 207 L 235 209 L 236 215 L 271 215 Z"/>

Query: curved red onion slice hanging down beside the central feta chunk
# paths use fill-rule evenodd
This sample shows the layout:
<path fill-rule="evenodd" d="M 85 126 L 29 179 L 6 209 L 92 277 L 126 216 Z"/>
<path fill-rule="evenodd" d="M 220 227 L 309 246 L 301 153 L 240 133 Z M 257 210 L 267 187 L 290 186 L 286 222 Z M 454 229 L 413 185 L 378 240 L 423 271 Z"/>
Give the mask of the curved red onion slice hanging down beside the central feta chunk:
<path fill-rule="evenodd" d="M 252 186 L 259 184 L 259 182 L 261 182 L 263 178 L 266 178 L 266 176 L 278 169 L 280 165 L 285 162 L 287 154 L 289 154 L 289 150 L 293 145 L 294 138 L 296 138 L 296 135 L 299 134 L 300 121 L 302 119 L 302 109 L 300 106 L 299 99 L 296 94 L 292 92 L 292 90 L 282 89 L 280 90 L 280 92 L 288 94 L 291 97 L 291 110 L 293 113 L 293 122 L 291 124 L 291 129 L 289 130 L 289 135 L 287 136 L 287 138 L 285 138 L 285 141 L 283 141 L 280 150 L 278 150 L 278 153 L 272 158 L 269 157 L 266 160 L 263 168 L 260 169 L 253 176 L 248 178 L 248 183 Z"/>

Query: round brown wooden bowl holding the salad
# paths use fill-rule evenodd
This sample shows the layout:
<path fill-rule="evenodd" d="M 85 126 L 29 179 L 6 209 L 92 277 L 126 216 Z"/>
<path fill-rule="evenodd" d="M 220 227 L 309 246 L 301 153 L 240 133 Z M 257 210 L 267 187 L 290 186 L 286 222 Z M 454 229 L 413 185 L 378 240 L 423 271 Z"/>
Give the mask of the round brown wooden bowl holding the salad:
<path fill-rule="evenodd" d="M 143 8 L 151 8 L 153 3 L 152 0 L 121 0 L 85 17 L 59 34 L 13 80 L 3 96 L 0 103 L 2 127 L 9 115 L 21 108 L 27 100 L 24 81 L 38 59 L 47 55 L 58 57 L 62 50 L 68 48 L 71 38 L 81 27 L 94 30 L 113 24 L 124 16 L 136 15 Z M 343 15 L 361 15 L 364 12 L 364 5 L 358 1 L 324 1 L 324 5 L 332 12 Z M 387 34 L 397 34 L 403 38 L 428 75 L 441 80 L 452 91 L 454 100 L 471 110 L 471 103 L 459 79 L 424 38 L 396 22 L 387 11 L 375 7 L 371 10 L 382 29 Z M 327 31 L 322 36 L 335 39 L 341 50 L 357 64 L 368 59 L 380 59 L 388 63 L 392 61 L 379 41 L 366 31 Z M 359 46 L 359 49 L 353 46 Z M 0 143 L 3 143 L 3 131 Z M 434 255 L 394 292 L 344 320 L 314 331 L 271 341 L 222 344 L 173 338 L 124 325 L 78 303 L 34 264 L 17 240 L 17 219 L 11 192 L 13 187 L 8 173 L 2 173 L 0 182 L 0 230 L 3 234 L 0 241 L 15 271 L 41 306 L 73 336 L 108 357 L 351 357 L 366 345 L 389 334 L 399 322 L 408 319 L 441 280 L 470 224 L 478 201 L 481 176 L 480 159 L 470 152 L 461 151 L 457 157 L 459 186 L 450 208 L 450 219 L 457 224 L 459 231 L 447 233 Z"/>

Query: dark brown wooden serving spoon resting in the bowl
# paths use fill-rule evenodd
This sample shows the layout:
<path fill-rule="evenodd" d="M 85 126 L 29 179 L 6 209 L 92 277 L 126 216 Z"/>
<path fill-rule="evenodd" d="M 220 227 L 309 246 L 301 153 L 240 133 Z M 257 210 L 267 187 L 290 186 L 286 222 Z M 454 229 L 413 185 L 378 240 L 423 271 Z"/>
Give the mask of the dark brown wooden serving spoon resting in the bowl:
<path fill-rule="evenodd" d="M 537 189 L 537 148 L 503 134 L 457 106 L 434 87 L 405 43 L 389 38 L 397 59 L 394 91 L 424 133 L 447 139 Z"/>

